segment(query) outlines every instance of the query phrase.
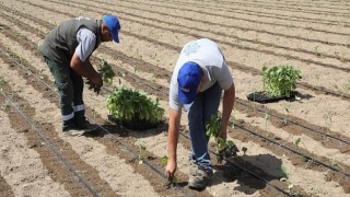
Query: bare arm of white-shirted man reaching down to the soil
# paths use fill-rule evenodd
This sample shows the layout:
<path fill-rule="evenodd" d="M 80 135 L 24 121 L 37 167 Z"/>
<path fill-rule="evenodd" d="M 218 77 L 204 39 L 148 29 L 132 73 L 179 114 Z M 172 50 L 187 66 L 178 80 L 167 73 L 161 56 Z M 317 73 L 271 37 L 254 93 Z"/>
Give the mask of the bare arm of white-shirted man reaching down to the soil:
<path fill-rule="evenodd" d="M 177 150 L 180 117 L 182 117 L 180 109 L 175 111 L 170 108 L 168 137 L 167 137 L 168 161 L 167 161 L 167 165 L 165 166 L 165 174 L 170 179 L 174 176 L 177 167 L 176 150 Z"/>

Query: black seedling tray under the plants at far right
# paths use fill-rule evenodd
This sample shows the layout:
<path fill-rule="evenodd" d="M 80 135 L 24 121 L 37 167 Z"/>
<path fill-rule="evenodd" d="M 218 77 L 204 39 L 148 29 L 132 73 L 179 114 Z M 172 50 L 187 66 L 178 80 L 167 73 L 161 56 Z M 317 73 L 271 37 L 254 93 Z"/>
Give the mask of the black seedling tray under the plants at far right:
<path fill-rule="evenodd" d="M 275 103 L 279 102 L 281 100 L 290 100 L 291 97 L 294 97 L 298 94 L 296 91 L 292 91 L 291 95 L 289 97 L 287 96 L 271 96 L 266 91 L 259 91 L 259 92 L 253 92 L 247 95 L 247 99 L 253 102 L 258 103 Z"/>

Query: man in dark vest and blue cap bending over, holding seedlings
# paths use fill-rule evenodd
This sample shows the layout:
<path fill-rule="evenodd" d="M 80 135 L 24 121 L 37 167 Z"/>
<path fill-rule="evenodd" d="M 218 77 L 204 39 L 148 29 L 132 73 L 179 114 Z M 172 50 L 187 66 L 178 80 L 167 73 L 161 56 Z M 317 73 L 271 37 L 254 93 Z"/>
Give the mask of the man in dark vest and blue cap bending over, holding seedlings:
<path fill-rule="evenodd" d="M 95 92 L 103 85 L 102 76 L 90 62 L 102 42 L 119 43 L 120 23 L 108 14 L 101 20 L 75 18 L 56 26 L 40 45 L 40 53 L 58 88 L 62 131 L 81 136 L 97 127 L 85 118 L 83 77 Z"/>

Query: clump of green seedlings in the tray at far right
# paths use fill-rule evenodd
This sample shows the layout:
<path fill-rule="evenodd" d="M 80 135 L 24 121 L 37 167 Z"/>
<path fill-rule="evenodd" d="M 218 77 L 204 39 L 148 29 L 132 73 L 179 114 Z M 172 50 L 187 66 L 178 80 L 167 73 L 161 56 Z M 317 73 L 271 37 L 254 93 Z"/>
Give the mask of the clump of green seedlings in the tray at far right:
<path fill-rule="evenodd" d="M 300 79 L 301 71 L 292 66 L 262 67 L 262 89 L 271 96 L 290 97 Z"/>

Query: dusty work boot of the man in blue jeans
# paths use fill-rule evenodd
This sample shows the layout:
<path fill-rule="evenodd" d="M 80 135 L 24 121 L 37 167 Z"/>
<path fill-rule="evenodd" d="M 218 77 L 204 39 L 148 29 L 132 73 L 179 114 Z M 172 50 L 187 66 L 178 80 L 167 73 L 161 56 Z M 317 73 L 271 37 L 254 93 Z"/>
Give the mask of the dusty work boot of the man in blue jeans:
<path fill-rule="evenodd" d="M 213 172 L 211 167 L 199 165 L 196 160 L 189 161 L 189 181 L 188 187 L 195 189 L 201 189 L 208 186 Z"/>

